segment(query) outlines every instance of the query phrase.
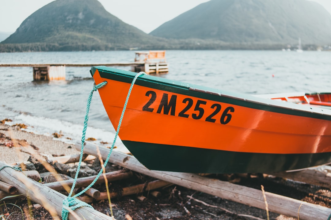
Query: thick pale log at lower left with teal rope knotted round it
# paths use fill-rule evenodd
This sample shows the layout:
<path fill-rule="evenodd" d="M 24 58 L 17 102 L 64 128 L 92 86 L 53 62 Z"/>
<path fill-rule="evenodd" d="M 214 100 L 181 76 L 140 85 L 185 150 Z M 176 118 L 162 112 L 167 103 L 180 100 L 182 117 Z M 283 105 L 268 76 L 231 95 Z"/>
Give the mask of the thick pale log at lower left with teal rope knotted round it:
<path fill-rule="evenodd" d="M 0 161 L 0 167 L 3 166 L 6 166 L 6 164 Z M 0 171 L 0 180 L 10 183 L 17 188 L 20 194 L 24 194 L 27 198 L 44 206 L 52 216 L 61 216 L 65 195 L 29 179 L 23 173 L 9 167 L 5 167 Z M 77 208 L 69 214 L 69 220 L 77 219 L 113 220 L 112 217 L 86 206 Z"/>

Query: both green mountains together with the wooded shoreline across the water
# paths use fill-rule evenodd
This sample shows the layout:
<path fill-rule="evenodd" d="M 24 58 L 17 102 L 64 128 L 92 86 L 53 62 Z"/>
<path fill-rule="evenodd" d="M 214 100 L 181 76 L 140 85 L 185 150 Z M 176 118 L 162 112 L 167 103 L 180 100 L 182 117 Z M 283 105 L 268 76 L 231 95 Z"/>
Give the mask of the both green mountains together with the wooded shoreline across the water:
<path fill-rule="evenodd" d="M 307 0 L 211 0 L 146 34 L 97 0 L 56 0 L 27 17 L 0 52 L 281 49 L 299 37 L 305 50 L 331 45 L 331 15 Z"/>

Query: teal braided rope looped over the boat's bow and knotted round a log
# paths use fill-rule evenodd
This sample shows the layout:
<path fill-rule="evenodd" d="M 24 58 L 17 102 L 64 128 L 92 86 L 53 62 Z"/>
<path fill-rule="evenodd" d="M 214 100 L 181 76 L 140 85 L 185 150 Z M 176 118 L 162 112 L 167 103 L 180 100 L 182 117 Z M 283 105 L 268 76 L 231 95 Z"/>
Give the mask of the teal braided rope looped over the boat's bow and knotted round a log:
<path fill-rule="evenodd" d="M 105 163 L 104 163 L 104 166 L 106 167 L 107 163 L 108 163 L 108 160 L 110 158 L 110 155 L 113 151 L 113 148 L 115 146 L 115 142 L 116 142 L 116 139 L 118 137 L 118 133 L 119 133 L 119 129 L 120 129 L 120 126 L 121 126 L 121 123 L 122 123 L 122 119 L 123 119 L 123 116 L 124 116 L 124 112 L 126 110 L 126 106 L 127 106 L 127 103 L 129 101 L 129 97 L 130 97 L 130 94 L 131 94 L 131 91 L 132 91 L 132 87 L 136 81 L 136 79 L 141 76 L 141 75 L 144 75 L 146 73 L 144 72 L 140 72 L 138 73 L 132 80 L 131 82 L 131 86 L 129 88 L 129 91 L 128 91 L 128 94 L 126 96 L 126 99 L 125 99 L 125 103 L 124 103 L 124 106 L 123 106 L 123 110 L 122 110 L 122 113 L 121 113 L 121 116 L 120 116 L 120 119 L 119 119 L 119 122 L 118 122 L 118 127 L 117 127 L 117 132 L 115 134 L 115 137 L 114 137 L 114 141 L 113 141 L 113 144 L 110 148 L 110 151 L 109 151 L 109 154 L 107 156 L 107 159 L 105 160 Z M 101 173 L 102 173 L 102 169 L 100 170 L 100 172 L 98 173 L 98 175 L 95 177 L 95 179 L 93 180 L 93 182 L 87 186 L 83 191 L 81 191 L 80 193 L 77 193 L 76 195 L 72 196 L 72 192 L 73 192 L 73 189 L 75 187 L 75 184 L 76 184 L 76 180 L 77 180 L 77 177 L 78 177 L 78 173 L 79 173 L 79 169 L 80 169 L 80 165 L 81 165 L 81 162 L 82 162 L 82 158 L 83 158 L 83 148 L 84 148 L 84 142 L 85 142 L 85 134 L 86 134 L 86 129 L 87 129 L 87 121 L 88 121 L 88 113 L 89 113 L 89 109 L 90 109 L 90 105 L 91 105 L 91 99 L 92 99 L 92 95 L 93 95 L 93 92 L 96 91 L 97 89 L 103 87 L 104 85 L 107 84 L 107 81 L 104 81 L 98 85 L 94 85 L 93 86 L 93 89 L 91 90 L 90 92 L 90 95 L 88 97 L 88 100 L 87 100 L 87 106 L 86 106 L 86 114 L 85 114 L 85 120 L 84 120 L 84 128 L 83 128 L 83 134 L 82 134 L 82 144 L 81 144 L 81 149 L 80 149 L 80 157 L 79 157 L 79 162 L 78 162 L 78 166 L 77 166 L 77 171 L 76 171 L 76 175 L 75 175 L 75 178 L 73 180 L 73 183 L 72 183 L 72 187 L 71 187 L 71 191 L 68 195 L 68 197 L 63 201 L 63 206 L 62 206 L 62 219 L 63 220 L 67 220 L 68 219 L 68 214 L 69 214 L 69 209 L 71 210 L 74 210 L 76 208 L 79 208 L 81 206 L 88 206 L 88 207 L 91 207 L 93 208 L 91 205 L 87 204 L 87 203 L 84 203 L 78 199 L 76 199 L 75 197 L 77 196 L 80 196 L 81 194 L 83 194 L 84 192 L 86 192 L 89 188 L 91 188 L 94 183 L 97 181 L 97 179 L 100 177 Z"/>

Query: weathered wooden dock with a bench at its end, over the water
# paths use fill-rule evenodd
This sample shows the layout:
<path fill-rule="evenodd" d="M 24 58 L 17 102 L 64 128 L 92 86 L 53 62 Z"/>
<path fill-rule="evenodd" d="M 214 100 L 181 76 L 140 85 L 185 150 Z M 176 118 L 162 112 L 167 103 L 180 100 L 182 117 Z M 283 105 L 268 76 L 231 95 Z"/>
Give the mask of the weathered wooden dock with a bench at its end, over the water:
<path fill-rule="evenodd" d="M 130 66 L 132 72 L 146 74 L 168 73 L 165 50 L 150 50 L 136 52 L 134 62 L 126 63 L 35 63 L 35 64 L 0 64 L 0 67 L 32 67 L 33 80 L 66 80 L 66 67 Z"/>

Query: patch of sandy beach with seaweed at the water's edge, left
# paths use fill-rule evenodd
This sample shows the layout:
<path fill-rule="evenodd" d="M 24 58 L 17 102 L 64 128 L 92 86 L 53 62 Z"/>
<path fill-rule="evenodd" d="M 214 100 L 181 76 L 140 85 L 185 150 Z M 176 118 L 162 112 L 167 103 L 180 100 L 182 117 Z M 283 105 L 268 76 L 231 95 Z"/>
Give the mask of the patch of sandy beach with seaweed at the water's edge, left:
<path fill-rule="evenodd" d="M 73 144 L 54 140 L 53 137 L 25 132 L 18 127 L 9 125 L 0 124 L 0 137 L 1 136 L 0 161 L 5 163 L 26 161 L 32 153 L 30 146 L 35 146 L 37 152 L 46 155 L 61 156 L 79 153 L 74 148 Z M 13 143 L 14 147 L 11 147 Z"/>

